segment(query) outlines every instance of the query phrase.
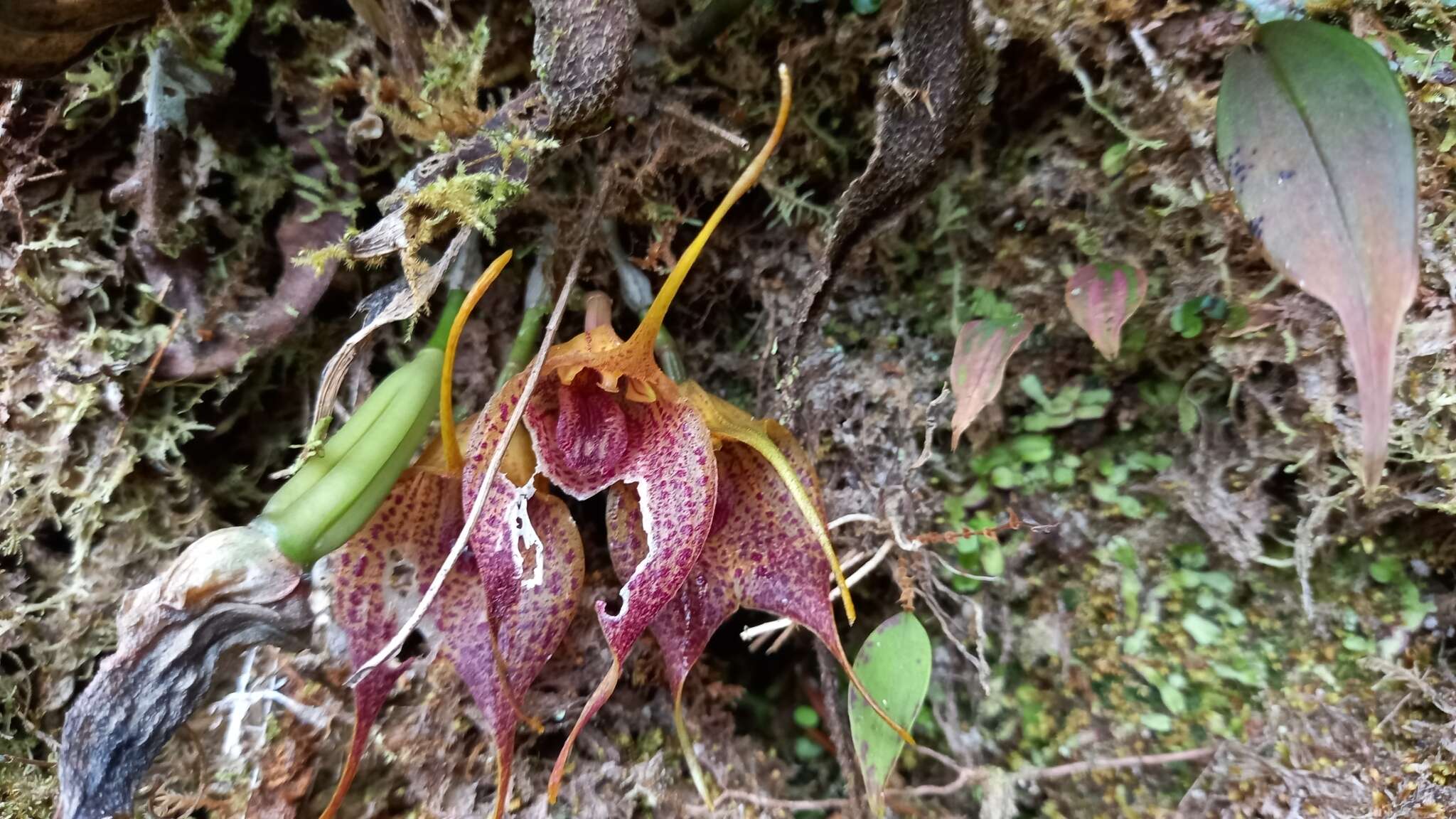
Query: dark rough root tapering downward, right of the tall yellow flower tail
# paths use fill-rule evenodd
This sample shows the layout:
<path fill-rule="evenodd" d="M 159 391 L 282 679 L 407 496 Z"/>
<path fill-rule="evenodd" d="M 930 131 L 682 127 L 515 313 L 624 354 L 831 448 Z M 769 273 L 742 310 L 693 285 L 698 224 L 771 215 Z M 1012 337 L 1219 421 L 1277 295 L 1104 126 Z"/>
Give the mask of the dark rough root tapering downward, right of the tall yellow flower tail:
<path fill-rule="evenodd" d="M 840 197 L 824 261 L 799 303 L 799 335 L 823 312 L 824 286 L 850 252 L 941 181 L 946 160 L 977 121 L 986 55 L 970 4 L 907 0 L 894 48 L 898 60 L 875 101 L 875 153 Z"/>

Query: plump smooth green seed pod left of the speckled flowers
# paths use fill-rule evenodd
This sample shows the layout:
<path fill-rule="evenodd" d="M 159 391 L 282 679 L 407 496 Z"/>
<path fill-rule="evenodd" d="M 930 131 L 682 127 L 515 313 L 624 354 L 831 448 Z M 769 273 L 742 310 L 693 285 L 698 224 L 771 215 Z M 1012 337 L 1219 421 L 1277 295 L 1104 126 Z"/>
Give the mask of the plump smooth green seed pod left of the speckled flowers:
<path fill-rule="evenodd" d="M 284 557 L 309 565 L 342 546 L 409 466 L 438 408 L 444 344 L 463 299 L 450 293 L 430 344 L 380 382 L 253 520 Z"/>

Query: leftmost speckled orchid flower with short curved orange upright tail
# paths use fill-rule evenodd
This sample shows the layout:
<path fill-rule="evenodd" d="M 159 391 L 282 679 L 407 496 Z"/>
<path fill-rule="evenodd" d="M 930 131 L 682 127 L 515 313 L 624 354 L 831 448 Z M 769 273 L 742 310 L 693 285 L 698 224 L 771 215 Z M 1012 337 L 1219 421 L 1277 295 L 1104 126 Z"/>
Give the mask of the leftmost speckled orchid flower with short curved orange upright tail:
<path fill-rule="evenodd" d="M 440 437 L 405 471 L 370 522 L 339 554 L 333 611 L 348 637 L 355 666 L 389 643 L 397 627 L 384 589 L 392 552 L 415 567 L 422 592 L 460 535 L 463 509 L 475 503 L 479 487 L 463 482 L 464 462 L 453 423 L 450 382 L 464 321 L 510 255 L 501 255 L 482 274 L 450 328 L 443 351 Z M 499 399 L 492 401 L 485 412 L 495 412 L 499 404 Z M 545 487 L 531 482 L 534 472 L 529 447 L 508 452 L 480 523 L 470 533 L 472 557 L 451 568 L 432 609 L 440 653 L 460 673 L 495 740 L 496 818 L 504 815 L 510 794 L 517 726 L 526 721 L 542 730 L 536 720 L 523 714 L 515 692 L 530 686 L 565 637 L 584 574 L 575 523 L 565 503 L 536 491 Z M 523 541 L 526 548 L 521 548 Z M 342 804 L 370 727 L 406 665 L 383 666 L 355 686 L 354 739 L 322 819 L 332 819 Z"/>

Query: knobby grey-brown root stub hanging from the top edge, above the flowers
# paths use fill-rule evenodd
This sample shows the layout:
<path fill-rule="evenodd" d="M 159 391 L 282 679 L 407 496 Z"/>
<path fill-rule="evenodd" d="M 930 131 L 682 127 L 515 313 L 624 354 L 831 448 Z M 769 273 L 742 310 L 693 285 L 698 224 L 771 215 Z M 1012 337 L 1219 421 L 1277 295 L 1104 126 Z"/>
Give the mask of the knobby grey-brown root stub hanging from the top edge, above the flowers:
<path fill-rule="evenodd" d="M 531 0 L 531 9 L 552 133 L 578 131 L 610 111 L 622 90 L 638 34 L 636 0 Z"/>

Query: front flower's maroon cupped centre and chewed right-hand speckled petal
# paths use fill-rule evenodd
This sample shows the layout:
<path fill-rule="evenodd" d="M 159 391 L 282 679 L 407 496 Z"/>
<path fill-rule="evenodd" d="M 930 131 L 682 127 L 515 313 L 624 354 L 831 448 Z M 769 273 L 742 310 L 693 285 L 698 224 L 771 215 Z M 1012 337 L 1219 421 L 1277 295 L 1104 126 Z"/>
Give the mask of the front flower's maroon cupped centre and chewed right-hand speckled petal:
<path fill-rule="evenodd" d="M 597 388 L 590 388 L 597 389 Z M 622 586 L 617 614 L 607 614 L 607 603 L 597 600 L 597 619 L 612 648 L 612 670 L 587 701 L 556 759 L 552 784 L 561 781 L 566 759 L 581 727 L 601 708 L 616 688 L 622 662 L 638 637 L 646 631 L 662 608 L 677 595 L 693 564 L 702 554 L 712 522 L 718 469 L 712 456 L 712 436 L 702 417 L 687 404 L 660 399 L 628 401 L 616 393 L 601 393 L 612 399 L 622 414 L 622 430 L 607 427 L 604 434 L 626 434 L 617 463 L 594 461 L 590 471 L 575 469 L 581 459 L 568 450 L 604 453 L 616 449 L 613 442 L 582 442 L 578 436 L 594 436 L 598 430 L 585 424 L 562 423 L 562 418 L 601 415 L 600 407 L 569 407 L 562 401 L 584 402 L 577 388 L 562 388 L 558 382 L 537 389 L 526 407 L 526 427 L 530 430 L 542 474 L 565 493 L 577 498 L 591 497 L 616 484 L 638 484 L 638 498 L 644 517 L 644 557 L 635 567 L 622 571 L 628 580 Z M 559 434 L 571 436 L 563 440 Z"/>

